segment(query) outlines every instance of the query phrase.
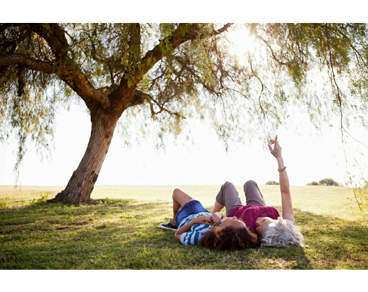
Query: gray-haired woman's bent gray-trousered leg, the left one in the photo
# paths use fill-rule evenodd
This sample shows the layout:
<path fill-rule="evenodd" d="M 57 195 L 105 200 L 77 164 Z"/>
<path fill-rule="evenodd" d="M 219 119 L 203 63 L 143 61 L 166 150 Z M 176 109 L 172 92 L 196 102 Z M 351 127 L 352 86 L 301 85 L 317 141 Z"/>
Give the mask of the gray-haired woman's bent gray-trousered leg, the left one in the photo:
<path fill-rule="evenodd" d="M 215 206 L 219 209 L 220 206 L 226 207 L 226 216 L 237 206 L 243 206 L 240 200 L 239 193 L 231 182 L 226 181 L 225 184 L 221 186 L 219 193 L 216 196 Z M 214 208 L 215 208 L 214 206 Z M 217 209 L 215 211 L 217 211 Z M 222 209 L 222 208 L 221 208 Z M 212 212 L 214 209 L 212 209 Z"/>

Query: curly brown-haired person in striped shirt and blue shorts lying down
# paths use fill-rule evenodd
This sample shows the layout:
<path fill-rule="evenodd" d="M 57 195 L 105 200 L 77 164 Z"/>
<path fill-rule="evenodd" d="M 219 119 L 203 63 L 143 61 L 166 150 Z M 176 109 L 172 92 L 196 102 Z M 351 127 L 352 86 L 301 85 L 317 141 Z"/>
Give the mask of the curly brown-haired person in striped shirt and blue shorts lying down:
<path fill-rule="evenodd" d="M 185 245 L 201 244 L 215 250 L 242 250 L 258 245 L 256 233 L 249 232 L 244 222 L 235 217 L 224 218 L 219 212 L 211 214 L 201 202 L 178 188 L 173 192 L 173 211 L 174 218 L 160 227 L 176 231 L 176 240 Z"/>

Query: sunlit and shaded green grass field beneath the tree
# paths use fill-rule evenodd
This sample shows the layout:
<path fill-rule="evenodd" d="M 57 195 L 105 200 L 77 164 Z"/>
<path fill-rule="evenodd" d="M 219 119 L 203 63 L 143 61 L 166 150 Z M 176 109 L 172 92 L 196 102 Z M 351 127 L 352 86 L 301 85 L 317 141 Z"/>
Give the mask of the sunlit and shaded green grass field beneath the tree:
<path fill-rule="evenodd" d="M 216 252 L 176 242 L 158 228 L 172 216 L 172 190 L 212 208 L 219 186 L 97 186 L 96 205 L 46 204 L 62 188 L 0 186 L 0 270 L 367 269 L 368 214 L 346 188 L 292 187 L 305 248 Z M 241 192 L 242 187 L 238 190 Z M 281 211 L 278 186 L 262 186 Z"/>

